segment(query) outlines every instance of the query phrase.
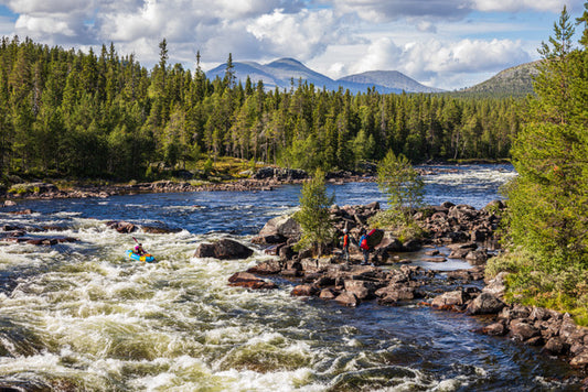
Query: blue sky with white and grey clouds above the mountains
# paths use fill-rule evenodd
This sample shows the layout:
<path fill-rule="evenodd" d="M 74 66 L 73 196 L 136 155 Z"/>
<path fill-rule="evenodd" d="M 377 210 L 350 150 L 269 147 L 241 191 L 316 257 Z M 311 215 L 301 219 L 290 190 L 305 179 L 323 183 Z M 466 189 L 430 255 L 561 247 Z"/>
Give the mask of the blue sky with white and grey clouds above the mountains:
<path fill-rule="evenodd" d="M 576 18 L 584 0 L 0 0 L 0 34 L 82 51 L 113 42 L 148 68 L 165 37 L 186 68 L 196 51 L 205 70 L 228 53 L 293 57 L 332 78 L 399 70 L 459 89 L 537 59 L 564 6 Z"/>

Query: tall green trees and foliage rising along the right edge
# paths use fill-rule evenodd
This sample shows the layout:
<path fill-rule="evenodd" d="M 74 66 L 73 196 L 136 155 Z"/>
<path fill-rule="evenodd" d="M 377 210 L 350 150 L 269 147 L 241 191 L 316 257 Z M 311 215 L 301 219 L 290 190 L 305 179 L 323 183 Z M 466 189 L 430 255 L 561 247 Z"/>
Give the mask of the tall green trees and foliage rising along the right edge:
<path fill-rule="evenodd" d="M 490 274 L 512 272 L 509 298 L 588 313 L 588 52 L 571 48 L 574 28 L 564 8 L 535 79 L 537 97 L 515 139 L 518 176 L 505 188 L 510 257 Z M 516 250 L 516 251 L 513 251 Z"/>

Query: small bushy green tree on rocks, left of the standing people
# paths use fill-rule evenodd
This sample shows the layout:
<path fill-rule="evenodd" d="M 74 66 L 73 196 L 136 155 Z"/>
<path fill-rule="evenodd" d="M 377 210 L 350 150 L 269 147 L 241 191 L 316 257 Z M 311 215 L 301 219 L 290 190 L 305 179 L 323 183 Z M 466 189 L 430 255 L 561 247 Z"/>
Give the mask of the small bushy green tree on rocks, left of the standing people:
<path fill-rule="evenodd" d="M 324 173 L 317 170 L 314 176 L 302 185 L 300 209 L 293 216 L 302 228 L 298 249 L 314 248 L 321 255 L 324 246 L 334 239 L 330 218 L 330 207 L 333 200 L 334 194 L 327 195 Z"/>

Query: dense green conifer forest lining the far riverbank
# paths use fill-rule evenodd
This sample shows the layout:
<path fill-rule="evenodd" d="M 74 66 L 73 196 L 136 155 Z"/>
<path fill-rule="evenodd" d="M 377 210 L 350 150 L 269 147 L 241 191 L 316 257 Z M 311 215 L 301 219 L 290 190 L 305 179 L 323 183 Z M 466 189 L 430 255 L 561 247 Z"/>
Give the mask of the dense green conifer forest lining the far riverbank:
<path fill-rule="evenodd" d="M 234 156 L 313 171 L 354 168 L 388 150 L 414 162 L 507 157 L 518 102 L 442 95 L 289 90 L 209 80 L 160 61 L 152 70 L 110 44 L 99 54 L 3 37 L 2 173 L 142 177 L 150 164 Z"/>

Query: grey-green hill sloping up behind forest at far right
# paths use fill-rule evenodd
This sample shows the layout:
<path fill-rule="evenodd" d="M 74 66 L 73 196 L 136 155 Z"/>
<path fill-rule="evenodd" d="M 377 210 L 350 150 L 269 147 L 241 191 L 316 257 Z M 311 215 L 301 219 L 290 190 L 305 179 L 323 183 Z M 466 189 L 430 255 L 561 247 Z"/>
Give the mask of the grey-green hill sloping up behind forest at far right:
<path fill-rule="evenodd" d="M 524 97 L 533 94 L 533 77 L 538 74 L 541 61 L 504 69 L 490 79 L 459 91 L 459 95 Z"/>

